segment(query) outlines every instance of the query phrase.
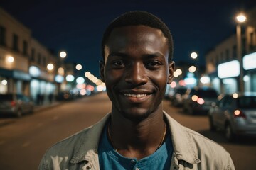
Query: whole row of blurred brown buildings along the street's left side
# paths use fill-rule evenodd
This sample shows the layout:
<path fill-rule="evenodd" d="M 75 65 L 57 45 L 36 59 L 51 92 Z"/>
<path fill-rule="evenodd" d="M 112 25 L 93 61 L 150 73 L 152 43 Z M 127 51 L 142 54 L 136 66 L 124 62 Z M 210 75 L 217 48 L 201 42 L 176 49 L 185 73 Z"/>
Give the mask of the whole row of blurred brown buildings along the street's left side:
<path fill-rule="evenodd" d="M 34 101 L 39 94 L 56 94 L 58 57 L 2 8 L 0 18 L 0 93 L 22 93 Z"/>

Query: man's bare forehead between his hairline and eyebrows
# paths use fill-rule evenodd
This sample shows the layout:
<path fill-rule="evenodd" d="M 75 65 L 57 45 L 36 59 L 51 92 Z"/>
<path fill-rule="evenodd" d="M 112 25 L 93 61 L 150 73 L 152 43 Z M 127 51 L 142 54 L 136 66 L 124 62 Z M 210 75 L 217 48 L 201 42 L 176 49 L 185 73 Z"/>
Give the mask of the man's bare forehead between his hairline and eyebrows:
<path fill-rule="evenodd" d="M 168 50 L 167 39 L 160 29 L 149 26 L 124 26 L 114 28 L 105 45 L 105 56 L 110 51 L 149 49 L 163 52 Z"/>

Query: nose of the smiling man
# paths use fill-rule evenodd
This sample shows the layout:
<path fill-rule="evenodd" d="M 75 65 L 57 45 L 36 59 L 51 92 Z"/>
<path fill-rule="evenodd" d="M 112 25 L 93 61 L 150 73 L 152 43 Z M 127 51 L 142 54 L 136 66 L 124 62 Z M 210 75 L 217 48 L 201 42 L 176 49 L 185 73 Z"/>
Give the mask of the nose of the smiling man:
<path fill-rule="evenodd" d="M 146 77 L 146 68 L 144 67 L 144 64 L 136 63 L 127 68 L 125 81 L 133 85 L 146 84 L 148 79 Z"/>

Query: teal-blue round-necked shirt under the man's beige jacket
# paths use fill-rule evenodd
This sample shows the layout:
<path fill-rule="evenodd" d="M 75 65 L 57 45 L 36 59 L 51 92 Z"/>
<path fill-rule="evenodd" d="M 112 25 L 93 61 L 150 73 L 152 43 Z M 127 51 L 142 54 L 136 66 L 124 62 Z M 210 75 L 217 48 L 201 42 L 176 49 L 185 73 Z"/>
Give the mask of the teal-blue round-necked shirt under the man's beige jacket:
<path fill-rule="evenodd" d="M 102 132 L 98 153 L 100 169 L 170 169 L 173 146 L 170 135 L 167 135 L 163 145 L 148 157 L 144 157 L 140 160 L 137 160 L 136 158 L 123 157 L 121 154 L 116 152 L 110 144 L 110 141 L 107 138 L 107 128 L 105 127 L 105 130 Z"/>

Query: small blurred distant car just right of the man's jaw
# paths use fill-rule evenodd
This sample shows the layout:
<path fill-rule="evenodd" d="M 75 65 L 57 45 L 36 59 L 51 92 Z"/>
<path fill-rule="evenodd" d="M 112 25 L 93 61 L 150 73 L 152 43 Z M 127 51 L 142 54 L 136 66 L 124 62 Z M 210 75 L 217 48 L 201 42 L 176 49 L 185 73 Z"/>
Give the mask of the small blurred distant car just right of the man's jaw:
<path fill-rule="evenodd" d="M 183 106 L 183 98 L 188 90 L 185 86 L 179 86 L 174 89 L 174 94 L 171 96 L 171 104 L 173 106 Z"/>

